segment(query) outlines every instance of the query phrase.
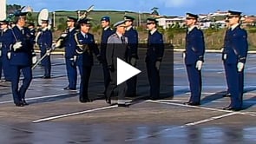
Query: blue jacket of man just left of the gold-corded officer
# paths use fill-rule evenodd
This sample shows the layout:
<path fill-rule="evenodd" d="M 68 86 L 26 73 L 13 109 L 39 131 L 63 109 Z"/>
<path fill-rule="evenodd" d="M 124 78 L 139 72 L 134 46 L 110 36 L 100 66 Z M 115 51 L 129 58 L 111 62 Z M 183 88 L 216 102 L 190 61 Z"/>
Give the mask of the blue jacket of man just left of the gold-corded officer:
<path fill-rule="evenodd" d="M 68 32 L 68 36 L 64 39 L 64 47 L 65 47 L 65 57 L 66 58 L 73 58 L 75 56 L 75 35 L 76 29 L 72 29 Z"/>

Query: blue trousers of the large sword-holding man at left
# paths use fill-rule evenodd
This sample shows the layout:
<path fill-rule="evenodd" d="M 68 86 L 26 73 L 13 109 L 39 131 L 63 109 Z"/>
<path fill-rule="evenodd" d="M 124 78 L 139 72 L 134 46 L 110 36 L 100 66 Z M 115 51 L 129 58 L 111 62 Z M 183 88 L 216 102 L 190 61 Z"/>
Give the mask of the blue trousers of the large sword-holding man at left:
<path fill-rule="evenodd" d="M 21 71 L 23 72 L 23 76 L 24 76 L 23 84 L 20 88 L 18 88 Z M 15 103 L 18 103 L 25 98 L 25 93 L 29 88 L 30 82 L 32 80 L 32 70 L 30 66 L 11 65 L 11 74 L 12 74 L 11 89 L 12 89 L 13 101 Z"/>

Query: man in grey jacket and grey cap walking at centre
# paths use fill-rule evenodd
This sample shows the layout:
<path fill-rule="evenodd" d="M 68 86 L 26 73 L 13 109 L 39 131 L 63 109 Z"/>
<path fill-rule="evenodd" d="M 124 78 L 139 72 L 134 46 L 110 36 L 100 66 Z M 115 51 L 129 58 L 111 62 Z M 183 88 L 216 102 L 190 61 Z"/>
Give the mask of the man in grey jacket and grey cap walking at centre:
<path fill-rule="evenodd" d="M 106 92 L 106 101 L 111 104 L 111 96 L 114 95 L 115 88 L 118 89 L 118 101 L 119 107 L 127 107 L 128 102 L 125 100 L 127 93 L 127 83 L 122 82 L 117 86 L 117 57 L 122 61 L 127 62 L 127 50 L 128 50 L 128 37 L 124 36 L 125 33 L 125 20 L 114 24 L 116 31 L 115 34 L 108 37 L 107 45 L 107 62 L 108 69 L 110 71 L 111 82 L 108 85 Z"/>

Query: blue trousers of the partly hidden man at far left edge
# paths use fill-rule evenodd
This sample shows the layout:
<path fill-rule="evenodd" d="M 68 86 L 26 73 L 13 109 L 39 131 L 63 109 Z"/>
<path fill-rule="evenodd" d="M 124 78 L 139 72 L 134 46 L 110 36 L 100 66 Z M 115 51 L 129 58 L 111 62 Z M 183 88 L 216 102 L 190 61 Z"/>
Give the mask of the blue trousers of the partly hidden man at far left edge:
<path fill-rule="evenodd" d="M 3 51 L 2 56 L 2 62 L 3 62 L 3 75 L 6 81 L 11 80 L 11 71 L 10 71 L 10 60 L 7 58 L 7 51 Z"/>

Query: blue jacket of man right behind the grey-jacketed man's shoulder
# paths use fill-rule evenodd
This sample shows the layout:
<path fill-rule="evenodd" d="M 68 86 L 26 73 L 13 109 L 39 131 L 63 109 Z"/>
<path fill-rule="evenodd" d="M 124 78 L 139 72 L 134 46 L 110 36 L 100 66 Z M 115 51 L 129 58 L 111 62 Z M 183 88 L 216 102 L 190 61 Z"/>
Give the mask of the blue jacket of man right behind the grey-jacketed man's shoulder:
<path fill-rule="evenodd" d="M 128 37 L 128 57 L 138 58 L 138 32 L 134 28 L 125 31 Z"/>

